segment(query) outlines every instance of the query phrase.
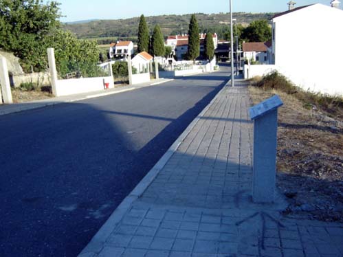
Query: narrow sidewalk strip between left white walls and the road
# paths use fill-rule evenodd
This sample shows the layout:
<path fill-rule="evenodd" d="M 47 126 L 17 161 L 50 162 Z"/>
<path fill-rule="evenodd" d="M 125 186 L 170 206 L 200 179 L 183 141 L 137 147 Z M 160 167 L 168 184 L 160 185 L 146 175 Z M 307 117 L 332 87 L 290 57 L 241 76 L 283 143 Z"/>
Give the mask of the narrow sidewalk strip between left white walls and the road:
<path fill-rule="evenodd" d="M 32 102 L 23 102 L 19 104 L 0 104 L 0 115 L 6 115 L 10 113 L 18 113 L 20 111 L 27 111 L 31 109 L 37 109 L 42 107 L 47 107 L 55 104 L 62 104 L 65 102 L 76 102 L 80 100 L 85 100 L 89 98 L 97 98 L 100 96 L 109 96 L 114 93 L 122 93 L 126 91 L 131 91 L 134 89 L 140 89 L 142 87 L 148 87 L 151 85 L 158 85 L 164 82 L 168 82 L 170 79 L 161 78 L 159 80 L 153 80 L 151 82 L 142 83 L 139 85 L 115 87 L 114 89 L 107 89 L 102 91 L 93 91 L 89 93 L 78 93 L 71 96 L 59 96 L 56 98 L 47 98 L 43 100 L 36 100 Z"/>

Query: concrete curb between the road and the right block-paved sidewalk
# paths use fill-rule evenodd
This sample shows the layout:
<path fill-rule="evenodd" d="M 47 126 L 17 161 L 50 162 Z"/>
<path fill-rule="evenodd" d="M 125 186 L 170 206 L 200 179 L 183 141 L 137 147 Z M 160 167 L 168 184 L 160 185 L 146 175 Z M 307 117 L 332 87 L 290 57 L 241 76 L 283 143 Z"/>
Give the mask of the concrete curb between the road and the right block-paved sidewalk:
<path fill-rule="evenodd" d="M 179 148 L 180 144 L 184 141 L 184 139 L 187 137 L 187 135 L 192 131 L 195 124 L 199 122 L 201 117 L 205 115 L 205 113 L 210 109 L 211 105 L 214 103 L 215 100 L 221 95 L 221 93 L 226 89 L 228 83 L 230 80 L 228 80 L 227 83 L 225 83 L 225 86 L 217 93 L 216 96 L 212 99 L 212 101 L 201 111 L 201 113 L 193 120 L 187 127 L 187 129 L 176 139 L 174 144 L 170 146 L 170 148 L 166 151 L 166 153 L 162 156 L 159 161 L 157 161 L 157 164 L 153 166 L 153 168 L 148 172 L 148 174 L 138 183 L 138 185 L 131 191 L 131 193 L 118 205 L 118 207 L 114 210 L 114 212 L 111 214 L 109 219 L 100 227 L 100 230 L 96 233 L 95 236 L 91 239 L 91 241 L 88 243 L 88 245 L 82 250 L 82 252 L 78 255 L 79 257 L 85 257 L 85 256 L 93 256 L 93 254 L 98 254 L 102 247 L 109 238 L 111 232 L 113 232 L 113 229 L 118 223 L 122 220 L 122 217 L 126 212 L 131 208 L 131 205 L 134 201 L 136 201 L 150 186 L 150 184 L 153 182 L 155 177 L 159 174 L 159 172 L 164 168 L 170 157 L 173 156 L 177 148 Z"/>

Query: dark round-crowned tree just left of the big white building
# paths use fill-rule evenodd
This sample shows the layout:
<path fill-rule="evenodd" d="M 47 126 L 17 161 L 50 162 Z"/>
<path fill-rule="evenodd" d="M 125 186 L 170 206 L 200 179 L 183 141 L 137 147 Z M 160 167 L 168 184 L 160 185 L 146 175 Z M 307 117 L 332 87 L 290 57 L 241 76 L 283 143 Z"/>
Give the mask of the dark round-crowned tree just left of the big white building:
<path fill-rule="evenodd" d="M 272 28 L 267 20 L 253 21 L 243 30 L 242 37 L 250 42 L 269 41 L 272 40 Z"/>

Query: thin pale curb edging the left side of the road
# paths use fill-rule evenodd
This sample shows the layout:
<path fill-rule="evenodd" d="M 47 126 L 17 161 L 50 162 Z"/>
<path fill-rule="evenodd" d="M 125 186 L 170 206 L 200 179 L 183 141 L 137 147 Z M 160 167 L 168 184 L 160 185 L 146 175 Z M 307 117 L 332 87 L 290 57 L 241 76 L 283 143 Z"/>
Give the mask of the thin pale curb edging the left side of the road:
<path fill-rule="evenodd" d="M 91 93 L 89 93 L 88 96 L 82 96 L 81 98 L 75 98 L 75 99 L 71 99 L 71 100 L 60 100 L 60 102 L 58 102 L 58 101 L 56 101 L 56 102 L 24 102 L 23 104 L 31 104 L 31 105 L 27 105 L 27 106 L 23 106 L 23 107 L 17 107 L 16 109 L 8 109 L 8 110 L 3 110 L 3 111 L 0 108 L 0 116 L 1 115 L 8 115 L 11 113 L 20 113 L 21 111 L 29 111 L 29 110 L 33 110 L 33 109 L 40 109 L 43 107 L 54 106 L 56 104 L 65 104 L 68 102 L 78 102 L 78 101 L 87 100 L 87 99 L 91 99 L 91 98 L 98 98 L 98 97 L 102 97 L 102 96 L 111 96 L 111 95 L 114 95 L 116 93 L 124 93 L 124 92 L 132 91 L 135 89 L 142 89 L 144 87 L 160 85 L 160 84 L 170 82 L 170 81 L 172 81 L 172 80 L 160 81 L 160 82 L 155 82 L 153 84 L 145 85 L 142 87 L 133 87 L 131 89 L 122 89 L 122 90 L 107 92 L 107 93 L 96 93 L 93 95 Z"/>

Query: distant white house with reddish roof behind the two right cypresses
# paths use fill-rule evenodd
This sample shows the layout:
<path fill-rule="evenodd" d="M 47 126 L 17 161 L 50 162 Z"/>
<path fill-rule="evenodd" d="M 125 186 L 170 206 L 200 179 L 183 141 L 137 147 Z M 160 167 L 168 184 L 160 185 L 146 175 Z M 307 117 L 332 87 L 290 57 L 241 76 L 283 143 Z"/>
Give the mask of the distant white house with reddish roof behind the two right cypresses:
<path fill-rule="evenodd" d="M 200 38 L 200 53 L 204 51 L 204 41 L 206 34 L 199 34 Z M 216 33 L 213 34 L 214 49 L 218 47 L 218 36 Z M 188 35 L 176 35 L 168 36 L 166 46 L 170 46 L 173 55 L 176 56 L 177 60 L 183 60 L 188 51 Z"/>

